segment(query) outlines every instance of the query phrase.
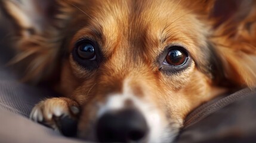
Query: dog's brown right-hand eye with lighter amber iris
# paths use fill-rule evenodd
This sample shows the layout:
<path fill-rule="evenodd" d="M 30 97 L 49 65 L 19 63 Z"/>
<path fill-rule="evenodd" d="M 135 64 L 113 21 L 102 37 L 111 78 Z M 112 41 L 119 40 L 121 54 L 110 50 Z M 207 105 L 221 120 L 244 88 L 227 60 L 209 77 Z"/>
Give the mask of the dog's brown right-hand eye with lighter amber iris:
<path fill-rule="evenodd" d="M 165 57 L 164 64 L 182 66 L 187 61 L 187 53 L 180 49 L 171 49 Z"/>

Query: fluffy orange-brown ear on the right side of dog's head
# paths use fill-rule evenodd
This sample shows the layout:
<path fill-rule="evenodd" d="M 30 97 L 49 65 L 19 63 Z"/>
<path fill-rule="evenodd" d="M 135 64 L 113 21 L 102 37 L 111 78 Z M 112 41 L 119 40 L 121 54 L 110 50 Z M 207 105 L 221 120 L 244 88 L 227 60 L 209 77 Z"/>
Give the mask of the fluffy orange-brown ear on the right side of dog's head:
<path fill-rule="evenodd" d="M 221 57 L 226 79 L 240 87 L 255 86 L 256 1 L 217 0 L 209 18 L 213 23 L 209 41 Z"/>

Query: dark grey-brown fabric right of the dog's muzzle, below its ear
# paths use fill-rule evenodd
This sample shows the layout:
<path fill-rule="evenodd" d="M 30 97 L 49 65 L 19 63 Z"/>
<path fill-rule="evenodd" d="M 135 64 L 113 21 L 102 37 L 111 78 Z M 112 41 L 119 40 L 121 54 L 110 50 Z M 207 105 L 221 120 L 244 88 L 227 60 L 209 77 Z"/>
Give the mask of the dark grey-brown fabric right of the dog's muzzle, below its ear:
<path fill-rule="evenodd" d="M 178 143 L 256 142 L 256 88 L 243 89 L 187 117 Z"/>

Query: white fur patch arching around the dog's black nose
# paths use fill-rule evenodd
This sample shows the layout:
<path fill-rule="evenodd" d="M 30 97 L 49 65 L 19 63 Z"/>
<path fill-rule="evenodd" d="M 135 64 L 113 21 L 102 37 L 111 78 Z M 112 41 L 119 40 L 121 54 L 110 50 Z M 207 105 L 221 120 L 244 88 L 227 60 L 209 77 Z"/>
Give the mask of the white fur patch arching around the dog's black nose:
<path fill-rule="evenodd" d="M 132 89 L 129 86 L 129 80 L 124 81 L 124 92 L 122 94 L 109 95 L 105 105 L 100 105 L 98 110 L 98 118 L 107 111 L 121 110 L 125 108 L 125 101 L 133 102 L 134 107 L 137 108 L 144 116 L 149 126 L 150 132 L 147 136 L 147 141 L 152 143 L 171 142 L 174 138 L 174 133 L 168 128 L 168 122 L 164 114 L 161 114 L 159 109 L 153 103 L 146 102 L 143 98 L 138 98 L 133 95 Z"/>

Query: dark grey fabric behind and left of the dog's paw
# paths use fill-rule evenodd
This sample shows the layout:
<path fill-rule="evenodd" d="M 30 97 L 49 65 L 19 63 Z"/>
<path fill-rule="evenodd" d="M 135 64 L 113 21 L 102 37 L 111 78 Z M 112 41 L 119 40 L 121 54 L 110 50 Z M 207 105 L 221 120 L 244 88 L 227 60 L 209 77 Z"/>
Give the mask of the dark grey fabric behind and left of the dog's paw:
<path fill-rule="evenodd" d="M 0 108 L 29 117 L 33 106 L 53 92 L 15 81 L 0 80 Z"/>

